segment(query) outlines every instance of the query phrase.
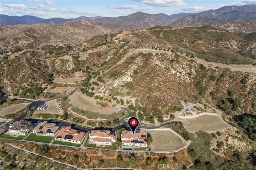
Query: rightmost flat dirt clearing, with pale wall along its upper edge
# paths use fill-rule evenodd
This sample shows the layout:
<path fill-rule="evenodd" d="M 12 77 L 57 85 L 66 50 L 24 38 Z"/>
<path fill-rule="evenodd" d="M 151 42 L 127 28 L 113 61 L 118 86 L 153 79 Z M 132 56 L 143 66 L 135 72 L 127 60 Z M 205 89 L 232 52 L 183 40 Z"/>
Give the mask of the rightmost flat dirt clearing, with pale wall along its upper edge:
<path fill-rule="evenodd" d="M 218 131 L 232 127 L 220 115 L 200 115 L 194 118 L 178 118 L 189 132 L 203 130 L 206 132 Z"/>

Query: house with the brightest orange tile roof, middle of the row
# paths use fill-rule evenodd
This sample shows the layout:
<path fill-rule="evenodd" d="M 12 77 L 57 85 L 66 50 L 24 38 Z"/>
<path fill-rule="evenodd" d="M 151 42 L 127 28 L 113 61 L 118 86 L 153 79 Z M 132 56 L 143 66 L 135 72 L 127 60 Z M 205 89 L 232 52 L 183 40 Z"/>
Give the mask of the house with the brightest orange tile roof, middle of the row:
<path fill-rule="evenodd" d="M 85 136 L 85 132 L 72 129 L 70 126 L 67 126 L 67 127 L 62 127 L 54 138 L 55 140 L 60 140 L 63 142 L 81 144 L 84 136 Z"/>

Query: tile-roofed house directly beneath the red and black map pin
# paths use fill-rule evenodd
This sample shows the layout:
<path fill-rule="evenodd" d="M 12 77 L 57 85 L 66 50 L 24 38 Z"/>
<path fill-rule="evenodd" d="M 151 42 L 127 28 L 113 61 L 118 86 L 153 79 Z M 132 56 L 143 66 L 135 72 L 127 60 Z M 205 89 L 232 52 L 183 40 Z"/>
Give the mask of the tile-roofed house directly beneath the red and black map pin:
<path fill-rule="evenodd" d="M 132 133 L 131 130 L 123 130 L 121 134 L 121 142 L 126 146 L 135 146 L 135 147 L 148 147 L 148 136 L 146 133 L 135 130 Z"/>

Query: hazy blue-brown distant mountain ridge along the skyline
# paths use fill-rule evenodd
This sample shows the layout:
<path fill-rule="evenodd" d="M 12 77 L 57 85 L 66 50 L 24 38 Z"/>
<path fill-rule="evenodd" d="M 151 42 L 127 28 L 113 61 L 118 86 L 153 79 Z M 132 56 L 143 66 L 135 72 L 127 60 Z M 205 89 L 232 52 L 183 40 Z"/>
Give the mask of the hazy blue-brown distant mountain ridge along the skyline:
<path fill-rule="evenodd" d="M 62 24 L 71 20 L 87 20 L 106 26 L 110 29 L 113 25 L 122 27 L 124 29 L 141 29 L 150 28 L 152 26 L 173 26 L 175 28 L 183 26 L 198 26 L 194 25 L 197 22 L 203 25 L 207 24 L 224 24 L 224 22 L 234 22 L 237 20 L 251 20 L 256 22 L 256 5 L 244 6 L 224 6 L 216 10 L 208 10 L 199 13 L 180 13 L 168 16 L 167 14 L 147 14 L 144 12 L 135 12 L 128 16 L 119 17 L 85 17 L 64 19 L 64 18 L 50 18 L 43 19 L 36 16 L 8 16 L 0 15 L 0 25 L 17 25 L 17 24 Z"/>

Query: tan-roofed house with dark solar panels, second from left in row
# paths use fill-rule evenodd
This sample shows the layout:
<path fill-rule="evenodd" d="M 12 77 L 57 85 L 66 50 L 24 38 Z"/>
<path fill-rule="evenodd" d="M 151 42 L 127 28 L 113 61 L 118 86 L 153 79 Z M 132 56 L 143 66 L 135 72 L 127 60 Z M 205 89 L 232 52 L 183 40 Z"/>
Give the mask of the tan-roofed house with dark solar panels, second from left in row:
<path fill-rule="evenodd" d="M 33 129 L 32 133 L 40 136 L 55 136 L 59 130 L 59 126 L 56 123 L 48 123 L 43 121 L 38 123 L 38 125 Z"/>

